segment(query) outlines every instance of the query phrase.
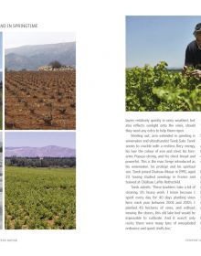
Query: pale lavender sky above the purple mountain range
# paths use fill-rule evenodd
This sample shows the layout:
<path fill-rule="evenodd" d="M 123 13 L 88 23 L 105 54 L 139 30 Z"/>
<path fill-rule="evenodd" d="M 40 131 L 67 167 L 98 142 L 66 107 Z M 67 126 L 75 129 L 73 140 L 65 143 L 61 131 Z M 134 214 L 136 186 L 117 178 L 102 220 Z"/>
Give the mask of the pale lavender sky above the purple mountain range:
<path fill-rule="evenodd" d="M 58 145 L 76 148 L 75 132 L 5 132 L 5 146 Z"/>

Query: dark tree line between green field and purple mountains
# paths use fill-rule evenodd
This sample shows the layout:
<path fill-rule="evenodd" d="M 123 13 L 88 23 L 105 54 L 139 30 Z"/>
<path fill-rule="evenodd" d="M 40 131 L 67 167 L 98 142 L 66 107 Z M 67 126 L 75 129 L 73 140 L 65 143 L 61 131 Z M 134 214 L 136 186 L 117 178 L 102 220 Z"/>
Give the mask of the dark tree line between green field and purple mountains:
<path fill-rule="evenodd" d="M 76 167 L 75 157 L 5 157 L 5 165 L 25 167 Z"/>

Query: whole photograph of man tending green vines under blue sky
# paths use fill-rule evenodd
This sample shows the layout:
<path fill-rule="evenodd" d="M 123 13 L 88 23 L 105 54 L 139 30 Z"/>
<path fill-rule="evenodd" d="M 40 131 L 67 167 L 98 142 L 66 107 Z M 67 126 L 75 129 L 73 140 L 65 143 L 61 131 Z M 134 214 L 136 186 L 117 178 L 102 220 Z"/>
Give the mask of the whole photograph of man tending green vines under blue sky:
<path fill-rule="evenodd" d="M 126 16 L 126 112 L 201 111 L 201 16 Z"/>

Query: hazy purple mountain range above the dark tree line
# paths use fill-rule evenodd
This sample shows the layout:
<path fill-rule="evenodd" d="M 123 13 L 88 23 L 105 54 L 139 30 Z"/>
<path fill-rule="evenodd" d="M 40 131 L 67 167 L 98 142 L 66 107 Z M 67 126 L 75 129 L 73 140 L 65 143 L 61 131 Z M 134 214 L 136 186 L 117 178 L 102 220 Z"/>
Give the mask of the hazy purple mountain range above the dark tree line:
<path fill-rule="evenodd" d="M 75 149 L 57 145 L 5 147 L 5 157 L 75 157 Z"/>

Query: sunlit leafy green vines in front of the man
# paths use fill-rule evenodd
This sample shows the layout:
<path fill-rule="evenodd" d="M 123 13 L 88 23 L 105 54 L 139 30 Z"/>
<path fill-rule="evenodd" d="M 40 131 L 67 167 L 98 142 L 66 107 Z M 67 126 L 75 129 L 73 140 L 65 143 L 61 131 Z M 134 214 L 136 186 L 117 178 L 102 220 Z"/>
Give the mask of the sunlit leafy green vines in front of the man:
<path fill-rule="evenodd" d="M 126 69 L 126 111 L 200 112 L 201 80 L 191 71 L 170 71 L 164 61 Z"/>

